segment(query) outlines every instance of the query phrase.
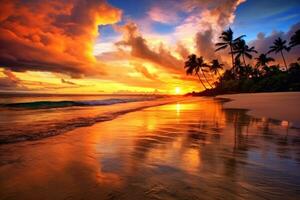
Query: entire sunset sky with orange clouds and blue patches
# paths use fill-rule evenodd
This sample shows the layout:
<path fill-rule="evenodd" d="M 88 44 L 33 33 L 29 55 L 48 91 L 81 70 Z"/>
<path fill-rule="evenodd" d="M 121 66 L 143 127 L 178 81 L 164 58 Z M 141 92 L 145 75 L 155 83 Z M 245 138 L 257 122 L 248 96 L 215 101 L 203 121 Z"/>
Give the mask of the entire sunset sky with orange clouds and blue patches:
<path fill-rule="evenodd" d="M 300 28 L 299 0 L 0 0 L 0 91 L 78 94 L 203 90 L 189 54 L 228 68 L 220 33 L 265 53 Z M 288 53 L 295 62 L 299 47 Z M 272 55 L 281 63 L 278 55 Z M 254 56 L 255 57 L 255 56 Z M 251 61 L 249 61 L 251 62 Z M 215 76 L 209 77 L 211 82 Z"/>

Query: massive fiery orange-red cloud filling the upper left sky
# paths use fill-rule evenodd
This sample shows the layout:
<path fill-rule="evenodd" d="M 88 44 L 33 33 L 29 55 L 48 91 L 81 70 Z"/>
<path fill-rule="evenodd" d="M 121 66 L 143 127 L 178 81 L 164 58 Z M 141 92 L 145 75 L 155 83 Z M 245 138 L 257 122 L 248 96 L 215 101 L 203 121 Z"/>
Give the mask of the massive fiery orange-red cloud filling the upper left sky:
<path fill-rule="evenodd" d="M 103 0 L 7 0 L 0 13 L 2 67 L 73 77 L 103 73 L 92 55 L 98 25 L 116 23 L 121 16 Z"/>

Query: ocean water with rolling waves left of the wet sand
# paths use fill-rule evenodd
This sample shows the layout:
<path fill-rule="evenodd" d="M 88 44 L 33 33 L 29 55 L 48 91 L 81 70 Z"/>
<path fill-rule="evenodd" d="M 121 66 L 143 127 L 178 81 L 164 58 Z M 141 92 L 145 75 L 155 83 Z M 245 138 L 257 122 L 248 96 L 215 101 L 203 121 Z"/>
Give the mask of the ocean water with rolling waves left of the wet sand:
<path fill-rule="evenodd" d="M 174 101 L 153 95 L 0 95 L 0 144 L 39 140 Z"/>

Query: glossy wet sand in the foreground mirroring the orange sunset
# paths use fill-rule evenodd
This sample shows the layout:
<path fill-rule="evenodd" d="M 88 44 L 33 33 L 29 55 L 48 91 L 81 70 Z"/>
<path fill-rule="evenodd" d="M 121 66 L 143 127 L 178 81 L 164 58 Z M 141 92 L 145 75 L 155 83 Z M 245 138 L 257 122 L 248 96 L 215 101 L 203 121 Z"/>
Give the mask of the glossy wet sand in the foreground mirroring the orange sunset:
<path fill-rule="evenodd" d="M 300 130 L 211 98 L 0 146 L 0 199 L 299 199 Z"/>

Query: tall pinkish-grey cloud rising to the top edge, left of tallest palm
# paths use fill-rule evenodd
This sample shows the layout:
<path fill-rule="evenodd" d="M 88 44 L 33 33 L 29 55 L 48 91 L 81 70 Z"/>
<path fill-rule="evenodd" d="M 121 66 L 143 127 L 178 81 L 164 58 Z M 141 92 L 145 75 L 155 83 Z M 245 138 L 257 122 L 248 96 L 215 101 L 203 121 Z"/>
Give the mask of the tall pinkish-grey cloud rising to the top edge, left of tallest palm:
<path fill-rule="evenodd" d="M 186 1 L 185 6 L 192 10 L 182 24 L 176 27 L 177 38 L 187 38 L 186 45 L 195 45 L 197 54 L 206 60 L 220 58 L 226 62 L 227 53 L 215 53 L 215 43 L 219 34 L 227 28 L 235 18 L 235 10 L 243 0 L 214 0 L 214 1 Z M 196 14 L 199 13 L 199 14 Z"/>

